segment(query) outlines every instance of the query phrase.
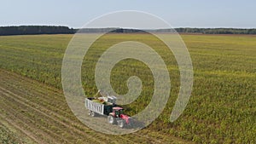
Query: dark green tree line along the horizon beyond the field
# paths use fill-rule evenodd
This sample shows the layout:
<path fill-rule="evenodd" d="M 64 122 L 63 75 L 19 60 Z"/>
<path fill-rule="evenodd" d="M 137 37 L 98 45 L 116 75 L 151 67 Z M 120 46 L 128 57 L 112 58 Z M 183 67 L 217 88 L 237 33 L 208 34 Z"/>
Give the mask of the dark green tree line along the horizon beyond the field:
<path fill-rule="evenodd" d="M 256 29 L 241 28 L 176 28 L 179 33 L 201 34 L 256 34 Z M 145 30 L 146 31 L 146 30 Z M 73 29 L 67 26 L 0 26 L 0 36 L 29 35 L 29 34 L 73 34 L 76 32 L 145 32 L 136 29 L 123 28 L 84 28 Z M 175 32 L 172 29 L 147 30 L 147 32 Z"/>

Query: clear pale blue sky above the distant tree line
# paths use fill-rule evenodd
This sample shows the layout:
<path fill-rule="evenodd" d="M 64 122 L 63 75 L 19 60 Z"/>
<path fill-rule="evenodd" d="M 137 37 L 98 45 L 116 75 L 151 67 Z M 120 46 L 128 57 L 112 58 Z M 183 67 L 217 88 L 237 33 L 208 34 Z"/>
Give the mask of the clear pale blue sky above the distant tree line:
<path fill-rule="evenodd" d="M 256 28 L 255 0 L 1 0 L 0 26 L 79 28 L 119 10 L 139 10 L 173 27 Z"/>

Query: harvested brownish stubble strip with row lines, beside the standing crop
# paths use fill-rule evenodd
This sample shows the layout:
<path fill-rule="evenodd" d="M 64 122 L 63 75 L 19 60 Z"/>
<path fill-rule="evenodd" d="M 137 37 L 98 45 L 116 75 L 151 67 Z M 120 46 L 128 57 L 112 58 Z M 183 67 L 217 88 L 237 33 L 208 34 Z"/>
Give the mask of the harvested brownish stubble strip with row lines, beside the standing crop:
<path fill-rule="evenodd" d="M 131 135 L 90 130 L 73 116 L 61 90 L 1 69 L 0 123 L 26 135 L 27 143 L 183 143 L 169 135 L 143 135 L 147 130 Z"/>

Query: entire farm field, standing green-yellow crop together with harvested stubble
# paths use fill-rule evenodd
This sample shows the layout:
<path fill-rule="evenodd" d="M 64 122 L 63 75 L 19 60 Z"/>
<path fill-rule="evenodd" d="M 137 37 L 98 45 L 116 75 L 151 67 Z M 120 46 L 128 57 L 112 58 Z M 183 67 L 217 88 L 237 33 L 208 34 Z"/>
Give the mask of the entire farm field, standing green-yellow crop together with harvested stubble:
<path fill-rule="evenodd" d="M 134 39 L 152 45 L 171 73 L 172 91 L 166 109 L 153 124 L 131 135 L 105 135 L 80 123 L 61 90 L 61 62 L 73 35 L 0 37 L 0 140 L 2 143 L 255 143 L 256 37 L 182 35 L 194 66 L 194 87 L 180 118 L 169 122 L 179 88 L 172 54 L 144 34 L 102 37 L 84 57 L 82 83 L 86 95 L 97 91 L 93 67 L 111 42 Z M 153 86 L 147 66 L 123 60 L 113 68 L 111 83 L 125 94 L 125 80 L 143 81 L 128 114 L 143 110 Z"/>

